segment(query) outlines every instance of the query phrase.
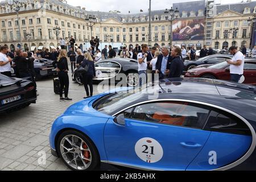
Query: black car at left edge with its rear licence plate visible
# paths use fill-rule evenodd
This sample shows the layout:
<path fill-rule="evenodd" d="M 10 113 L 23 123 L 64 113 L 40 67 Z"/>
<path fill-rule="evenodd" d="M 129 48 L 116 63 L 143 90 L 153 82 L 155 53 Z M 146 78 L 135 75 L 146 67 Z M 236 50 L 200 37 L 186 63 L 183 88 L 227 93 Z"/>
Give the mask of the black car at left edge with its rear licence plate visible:
<path fill-rule="evenodd" d="M 0 74 L 0 112 L 36 103 L 36 90 L 31 81 Z"/>

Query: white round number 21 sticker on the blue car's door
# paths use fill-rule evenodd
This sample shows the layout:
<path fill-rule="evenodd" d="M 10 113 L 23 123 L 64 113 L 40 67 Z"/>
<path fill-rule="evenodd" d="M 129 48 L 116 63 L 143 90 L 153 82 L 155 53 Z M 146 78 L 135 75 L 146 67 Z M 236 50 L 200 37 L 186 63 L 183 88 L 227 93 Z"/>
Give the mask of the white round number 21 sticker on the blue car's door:
<path fill-rule="evenodd" d="M 163 158 L 163 148 L 152 138 L 142 138 L 135 144 L 137 156 L 147 163 L 157 163 Z"/>

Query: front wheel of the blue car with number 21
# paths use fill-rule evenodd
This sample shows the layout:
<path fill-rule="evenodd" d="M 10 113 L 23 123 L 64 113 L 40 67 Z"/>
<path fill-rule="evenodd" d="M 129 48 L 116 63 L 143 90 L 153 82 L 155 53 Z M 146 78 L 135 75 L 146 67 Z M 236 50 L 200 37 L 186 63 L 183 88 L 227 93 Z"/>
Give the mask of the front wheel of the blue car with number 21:
<path fill-rule="evenodd" d="M 70 139 L 72 137 L 73 137 L 73 141 L 71 142 Z M 69 139 L 69 141 L 67 140 L 67 138 Z M 70 142 L 73 143 L 74 146 L 72 146 Z M 81 144 L 81 143 L 84 143 L 84 144 Z M 63 146 L 66 148 L 64 148 Z M 81 146 L 85 147 L 84 149 L 86 149 L 87 151 L 80 150 L 79 147 Z M 73 150 L 71 150 L 72 148 L 70 147 L 72 147 Z M 73 171 L 92 171 L 93 169 L 97 169 L 97 167 L 100 166 L 100 155 L 98 154 L 96 146 L 94 145 L 92 140 L 90 140 L 88 137 L 86 137 L 84 134 L 80 133 L 79 131 L 68 130 L 61 133 L 59 138 L 57 139 L 56 149 L 57 149 L 57 153 L 59 154 L 60 158 L 63 160 L 65 165 L 68 168 L 72 169 Z M 67 149 L 74 152 L 67 152 L 68 151 Z M 67 155 L 64 154 L 65 151 L 67 152 L 66 153 Z M 90 161 L 85 159 L 83 160 L 81 156 L 83 156 L 84 158 L 90 159 Z M 73 161 L 72 161 L 72 158 L 73 158 Z M 76 159 L 74 160 L 74 158 Z M 79 164 L 81 164 L 81 167 L 79 167 Z M 88 166 L 85 166 L 85 164 Z M 82 168 L 82 166 L 84 166 L 84 168 Z"/>

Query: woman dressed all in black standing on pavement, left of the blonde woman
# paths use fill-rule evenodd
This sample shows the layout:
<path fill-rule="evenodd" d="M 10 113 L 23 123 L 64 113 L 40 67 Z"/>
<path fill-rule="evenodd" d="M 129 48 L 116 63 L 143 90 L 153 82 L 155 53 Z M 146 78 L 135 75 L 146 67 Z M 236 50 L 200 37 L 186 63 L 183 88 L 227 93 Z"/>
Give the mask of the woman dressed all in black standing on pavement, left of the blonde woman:
<path fill-rule="evenodd" d="M 56 71 L 59 76 L 60 101 L 71 101 L 72 98 L 68 98 L 68 89 L 69 89 L 68 59 L 67 59 L 67 51 L 65 49 L 61 49 L 60 55 L 57 61 L 53 62 L 53 66 L 56 68 Z M 63 98 L 63 89 L 64 89 L 65 98 Z"/>

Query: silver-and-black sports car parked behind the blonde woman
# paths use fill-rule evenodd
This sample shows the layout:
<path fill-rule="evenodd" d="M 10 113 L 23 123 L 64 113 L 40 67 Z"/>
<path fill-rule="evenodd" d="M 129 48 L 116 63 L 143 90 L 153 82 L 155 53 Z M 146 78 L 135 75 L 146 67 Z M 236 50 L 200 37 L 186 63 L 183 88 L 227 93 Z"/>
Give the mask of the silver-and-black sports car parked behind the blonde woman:
<path fill-rule="evenodd" d="M 114 58 L 97 61 L 95 63 L 96 78 L 93 79 L 94 83 L 101 81 L 120 82 L 125 79 L 128 86 L 138 85 L 138 61 L 134 59 Z M 123 75 L 121 75 L 123 73 Z M 73 72 L 73 81 L 81 84 L 82 76 Z"/>

